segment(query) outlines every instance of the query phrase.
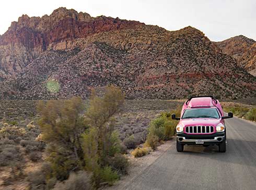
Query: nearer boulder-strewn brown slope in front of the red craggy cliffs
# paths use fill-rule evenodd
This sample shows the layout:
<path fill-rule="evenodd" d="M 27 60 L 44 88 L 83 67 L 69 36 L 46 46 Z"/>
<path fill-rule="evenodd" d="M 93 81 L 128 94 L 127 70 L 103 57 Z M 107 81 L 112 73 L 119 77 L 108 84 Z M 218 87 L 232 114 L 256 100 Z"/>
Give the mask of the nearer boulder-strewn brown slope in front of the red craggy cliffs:
<path fill-rule="evenodd" d="M 108 84 L 120 86 L 127 98 L 256 95 L 256 78 L 192 27 L 167 31 L 136 24 L 65 43 L 71 45 L 56 43 L 59 48 L 44 50 L 0 83 L 0 98 L 86 97 L 92 87 Z M 60 86 L 55 93 L 46 88 L 52 80 Z"/>

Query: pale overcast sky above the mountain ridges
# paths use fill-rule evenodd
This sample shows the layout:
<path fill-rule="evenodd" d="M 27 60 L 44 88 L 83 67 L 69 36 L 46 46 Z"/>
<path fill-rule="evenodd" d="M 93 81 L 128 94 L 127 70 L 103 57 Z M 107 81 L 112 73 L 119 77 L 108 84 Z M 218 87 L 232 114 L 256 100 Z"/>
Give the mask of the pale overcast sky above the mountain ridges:
<path fill-rule="evenodd" d="M 0 34 L 22 14 L 50 15 L 59 7 L 87 12 L 92 17 L 137 20 L 167 30 L 192 26 L 212 41 L 222 41 L 236 35 L 256 40 L 255 0 L 13 0 L 0 4 Z"/>

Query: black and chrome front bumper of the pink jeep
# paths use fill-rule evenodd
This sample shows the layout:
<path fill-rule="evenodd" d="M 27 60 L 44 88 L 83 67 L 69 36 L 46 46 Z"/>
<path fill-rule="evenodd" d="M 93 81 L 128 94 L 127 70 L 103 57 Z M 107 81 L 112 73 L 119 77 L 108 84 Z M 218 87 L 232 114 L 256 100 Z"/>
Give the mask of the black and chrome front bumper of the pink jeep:
<path fill-rule="evenodd" d="M 203 144 L 196 142 L 203 141 Z M 177 133 L 177 142 L 187 145 L 214 145 L 226 141 L 225 133 L 215 133 L 212 135 L 188 135 Z"/>

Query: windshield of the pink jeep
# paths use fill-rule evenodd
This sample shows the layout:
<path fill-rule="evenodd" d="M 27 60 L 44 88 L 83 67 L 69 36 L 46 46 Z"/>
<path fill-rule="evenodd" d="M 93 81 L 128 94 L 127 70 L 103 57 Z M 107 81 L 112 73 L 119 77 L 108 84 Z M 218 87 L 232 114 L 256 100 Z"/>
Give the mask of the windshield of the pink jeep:
<path fill-rule="evenodd" d="M 216 108 L 191 108 L 186 109 L 183 113 L 182 119 L 190 118 L 219 118 Z"/>

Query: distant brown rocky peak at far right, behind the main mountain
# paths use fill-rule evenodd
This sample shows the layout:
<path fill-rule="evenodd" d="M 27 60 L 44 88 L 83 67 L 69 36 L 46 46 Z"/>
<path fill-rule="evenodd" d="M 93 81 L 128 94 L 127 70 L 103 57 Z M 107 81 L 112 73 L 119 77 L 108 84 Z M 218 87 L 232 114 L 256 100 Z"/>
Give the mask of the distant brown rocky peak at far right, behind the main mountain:
<path fill-rule="evenodd" d="M 224 54 L 234 57 L 241 67 L 256 76 L 256 41 L 239 35 L 216 44 Z"/>

